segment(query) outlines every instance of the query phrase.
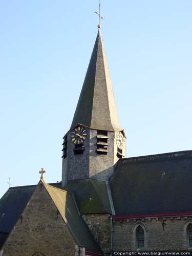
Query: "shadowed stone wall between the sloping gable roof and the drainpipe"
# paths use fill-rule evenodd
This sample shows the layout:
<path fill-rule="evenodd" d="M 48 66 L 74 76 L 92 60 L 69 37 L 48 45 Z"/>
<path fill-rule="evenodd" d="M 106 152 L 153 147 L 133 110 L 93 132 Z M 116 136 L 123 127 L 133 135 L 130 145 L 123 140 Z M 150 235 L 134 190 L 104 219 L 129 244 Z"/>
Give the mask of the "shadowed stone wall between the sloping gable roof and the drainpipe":
<path fill-rule="evenodd" d="M 83 219 L 92 231 L 103 252 L 110 253 L 111 227 L 109 214 L 86 214 Z"/>

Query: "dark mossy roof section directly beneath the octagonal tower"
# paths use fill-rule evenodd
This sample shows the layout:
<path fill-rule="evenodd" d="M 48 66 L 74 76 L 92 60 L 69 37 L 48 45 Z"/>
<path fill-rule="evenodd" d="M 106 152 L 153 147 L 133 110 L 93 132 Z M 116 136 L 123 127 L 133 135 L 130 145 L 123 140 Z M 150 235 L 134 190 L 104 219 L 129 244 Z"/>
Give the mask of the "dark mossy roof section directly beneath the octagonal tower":
<path fill-rule="evenodd" d="M 74 194 L 81 214 L 115 215 L 108 181 L 70 180 L 64 188 Z"/>

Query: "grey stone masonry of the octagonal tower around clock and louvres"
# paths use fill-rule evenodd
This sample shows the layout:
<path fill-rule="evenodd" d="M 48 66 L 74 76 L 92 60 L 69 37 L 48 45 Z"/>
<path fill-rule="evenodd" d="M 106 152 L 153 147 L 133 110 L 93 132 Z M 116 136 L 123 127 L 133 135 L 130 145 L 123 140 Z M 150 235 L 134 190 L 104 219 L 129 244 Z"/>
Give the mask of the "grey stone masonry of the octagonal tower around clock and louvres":
<path fill-rule="evenodd" d="M 67 134 L 67 157 L 62 162 L 62 186 L 67 180 L 94 178 L 108 180 L 114 172 L 114 164 L 118 161 L 116 133 L 108 132 L 108 154 L 97 154 L 97 130 L 88 129 L 84 141 L 83 154 L 74 154 L 74 143 L 71 141 L 71 132 Z M 123 155 L 126 147 L 123 148 Z"/>

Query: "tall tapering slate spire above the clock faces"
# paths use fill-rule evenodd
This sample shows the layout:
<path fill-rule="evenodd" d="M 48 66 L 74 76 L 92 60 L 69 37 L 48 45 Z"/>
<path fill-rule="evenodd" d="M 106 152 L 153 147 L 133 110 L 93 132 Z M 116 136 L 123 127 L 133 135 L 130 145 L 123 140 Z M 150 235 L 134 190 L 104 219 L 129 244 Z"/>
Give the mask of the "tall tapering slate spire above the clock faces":
<path fill-rule="evenodd" d="M 71 129 L 77 124 L 92 129 L 120 129 L 112 83 L 100 29 L 82 86 Z"/>

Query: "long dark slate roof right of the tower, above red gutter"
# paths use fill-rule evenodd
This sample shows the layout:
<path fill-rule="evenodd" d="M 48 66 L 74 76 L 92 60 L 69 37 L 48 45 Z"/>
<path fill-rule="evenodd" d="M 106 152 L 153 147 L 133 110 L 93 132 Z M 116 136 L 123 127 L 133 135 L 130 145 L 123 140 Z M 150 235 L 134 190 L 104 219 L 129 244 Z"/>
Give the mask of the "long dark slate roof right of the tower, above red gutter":
<path fill-rule="evenodd" d="M 110 181 L 117 216 L 192 211 L 192 151 L 124 158 Z"/>

